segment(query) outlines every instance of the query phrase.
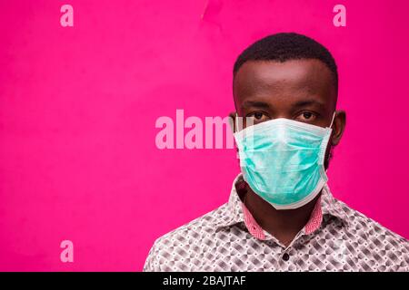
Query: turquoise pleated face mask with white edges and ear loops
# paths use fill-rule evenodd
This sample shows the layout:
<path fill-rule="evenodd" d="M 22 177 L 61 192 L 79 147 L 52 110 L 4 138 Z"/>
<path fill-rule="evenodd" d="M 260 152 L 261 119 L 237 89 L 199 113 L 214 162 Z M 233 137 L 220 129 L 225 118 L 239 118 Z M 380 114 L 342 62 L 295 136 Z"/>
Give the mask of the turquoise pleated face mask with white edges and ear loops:
<path fill-rule="evenodd" d="M 328 180 L 324 158 L 333 121 L 323 128 L 280 118 L 235 132 L 244 180 L 276 209 L 303 207 Z"/>

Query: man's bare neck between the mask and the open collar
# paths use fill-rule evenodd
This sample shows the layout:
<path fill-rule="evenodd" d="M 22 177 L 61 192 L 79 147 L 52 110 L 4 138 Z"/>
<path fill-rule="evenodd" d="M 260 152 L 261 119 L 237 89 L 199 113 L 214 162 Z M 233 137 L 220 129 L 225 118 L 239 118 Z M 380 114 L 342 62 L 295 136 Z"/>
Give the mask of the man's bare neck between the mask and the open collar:
<path fill-rule="evenodd" d="M 245 207 L 260 227 L 276 237 L 285 247 L 291 244 L 294 237 L 306 225 L 320 196 L 318 195 L 301 208 L 277 210 L 255 194 L 248 185 L 246 189 Z"/>

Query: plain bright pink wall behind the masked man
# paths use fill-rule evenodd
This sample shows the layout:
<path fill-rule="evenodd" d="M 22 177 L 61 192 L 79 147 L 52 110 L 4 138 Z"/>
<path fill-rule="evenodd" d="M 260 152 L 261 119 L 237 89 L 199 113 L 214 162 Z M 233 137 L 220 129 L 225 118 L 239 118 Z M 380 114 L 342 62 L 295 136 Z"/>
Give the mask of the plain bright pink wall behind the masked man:
<path fill-rule="evenodd" d="M 206 3 L 1 1 L 0 270 L 141 270 L 155 238 L 223 204 L 234 150 L 157 150 L 155 121 L 233 111 L 236 56 L 283 31 L 339 66 L 334 196 L 409 237 L 408 2 Z"/>

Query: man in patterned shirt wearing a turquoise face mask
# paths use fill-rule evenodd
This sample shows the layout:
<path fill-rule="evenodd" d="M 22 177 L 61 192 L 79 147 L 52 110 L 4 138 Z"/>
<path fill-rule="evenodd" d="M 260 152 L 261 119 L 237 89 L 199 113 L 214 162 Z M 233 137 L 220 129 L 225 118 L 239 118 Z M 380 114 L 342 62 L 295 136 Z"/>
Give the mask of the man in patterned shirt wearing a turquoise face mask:
<path fill-rule="evenodd" d="M 345 127 L 331 53 L 304 35 L 267 36 L 234 63 L 233 91 L 243 174 L 228 203 L 158 238 L 144 270 L 409 271 L 408 241 L 326 185 Z"/>

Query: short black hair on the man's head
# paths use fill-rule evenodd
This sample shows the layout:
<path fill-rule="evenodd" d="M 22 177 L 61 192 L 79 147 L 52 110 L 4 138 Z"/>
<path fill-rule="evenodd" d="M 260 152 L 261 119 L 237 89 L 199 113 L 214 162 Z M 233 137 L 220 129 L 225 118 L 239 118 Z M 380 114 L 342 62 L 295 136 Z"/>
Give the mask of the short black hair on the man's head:
<path fill-rule="evenodd" d="M 233 75 L 248 61 L 276 61 L 316 59 L 323 62 L 334 76 L 338 92 L 338 70 L 333 55 L 314 39 L 303 34 L 280 33 L 268 35 L 247 47 L 234 63 Z"/>

